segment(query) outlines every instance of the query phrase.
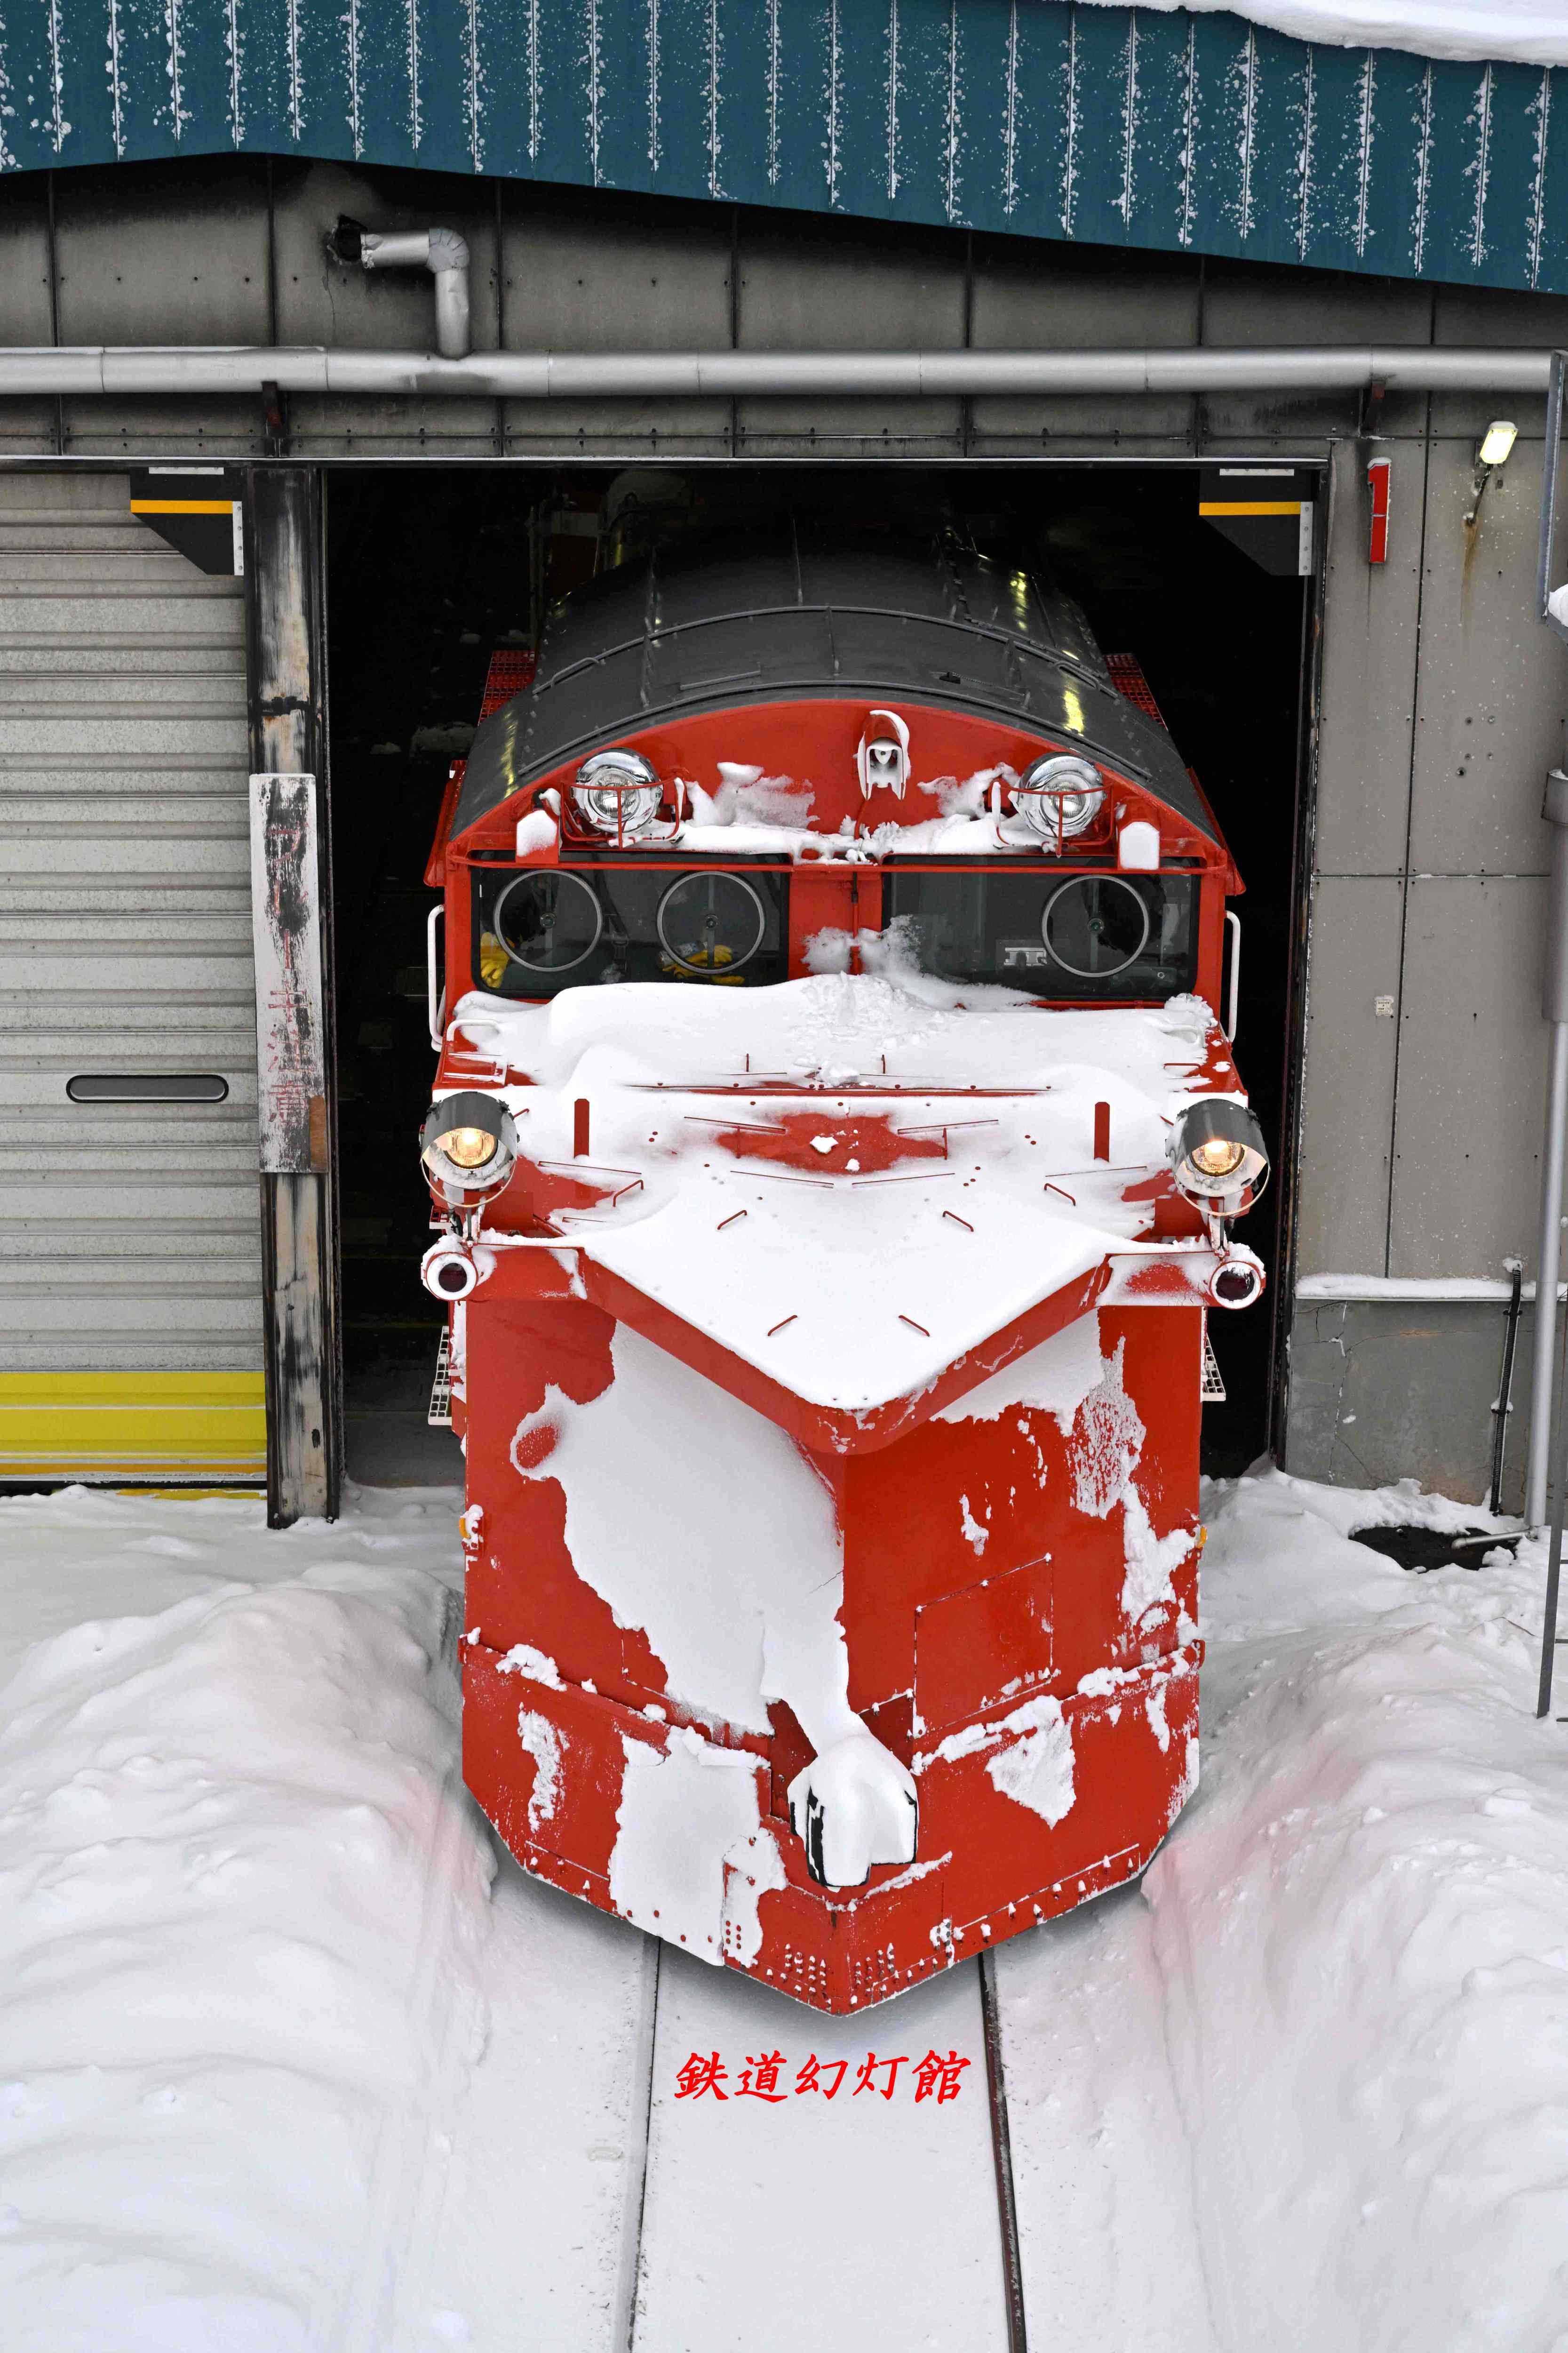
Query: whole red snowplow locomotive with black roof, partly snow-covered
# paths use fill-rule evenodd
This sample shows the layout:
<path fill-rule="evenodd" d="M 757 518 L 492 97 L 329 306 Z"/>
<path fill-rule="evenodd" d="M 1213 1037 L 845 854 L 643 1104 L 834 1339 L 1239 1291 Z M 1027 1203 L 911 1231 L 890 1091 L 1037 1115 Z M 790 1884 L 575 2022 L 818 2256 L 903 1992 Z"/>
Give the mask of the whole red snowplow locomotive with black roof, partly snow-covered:
<path fill-rule="evenodd" d="M 820 2009 L 1131 1878 L 1197 1777 L 1267 1160 L 1239 878 L 1138 687 L 971 555 L 628 567 L 437 852 L 468 1784 Z"/>

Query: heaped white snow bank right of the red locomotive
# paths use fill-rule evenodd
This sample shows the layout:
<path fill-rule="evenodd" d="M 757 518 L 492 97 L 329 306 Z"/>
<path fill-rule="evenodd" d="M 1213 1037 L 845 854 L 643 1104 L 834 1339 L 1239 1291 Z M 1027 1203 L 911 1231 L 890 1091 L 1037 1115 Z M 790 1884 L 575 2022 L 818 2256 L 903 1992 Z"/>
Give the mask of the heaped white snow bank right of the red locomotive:
<path fill-rule="evenodd" d="M 1145 1899 L 1215 2341 L 1561 2348 L 1568 1729 L 1533 1715 L 1540 1548 L 1415 1577 L 1345 1541 L 1460 1518 L 1413 1485 L 1269 1475 L 1211 1511 L 1204 1791 Z"/>

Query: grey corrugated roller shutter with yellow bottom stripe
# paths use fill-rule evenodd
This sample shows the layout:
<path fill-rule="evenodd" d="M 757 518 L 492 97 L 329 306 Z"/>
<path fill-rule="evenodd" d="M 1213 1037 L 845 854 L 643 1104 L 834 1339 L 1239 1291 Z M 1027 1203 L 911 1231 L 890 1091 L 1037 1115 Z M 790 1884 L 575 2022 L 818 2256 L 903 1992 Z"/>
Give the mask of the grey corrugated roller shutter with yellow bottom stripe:
<path fill-rule="evenodd" d="M 0 475 L 0 1478 L 263 1468 L 242 586 Z"/>

